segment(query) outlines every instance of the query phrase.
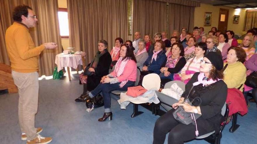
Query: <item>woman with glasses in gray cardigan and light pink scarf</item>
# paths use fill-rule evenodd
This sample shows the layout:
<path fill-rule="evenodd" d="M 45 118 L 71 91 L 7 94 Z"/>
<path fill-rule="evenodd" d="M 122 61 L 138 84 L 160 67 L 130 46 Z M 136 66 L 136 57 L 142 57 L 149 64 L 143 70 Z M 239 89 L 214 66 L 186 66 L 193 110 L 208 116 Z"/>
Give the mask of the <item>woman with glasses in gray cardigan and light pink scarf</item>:
<path fill-rule="evenodd" d="M 145 61 L 148 58 L 148 53 L 145 48 L 144 40 L 140 40 L 138 42 L 138 51 L 135 54 L 135 56 L 136 56 L 136 60 L 137 60 L 137 63 L 136 63 L 137 67 L 140 69 L 140 71 L 142 71 L 143 64 L 145 63 Z"/>

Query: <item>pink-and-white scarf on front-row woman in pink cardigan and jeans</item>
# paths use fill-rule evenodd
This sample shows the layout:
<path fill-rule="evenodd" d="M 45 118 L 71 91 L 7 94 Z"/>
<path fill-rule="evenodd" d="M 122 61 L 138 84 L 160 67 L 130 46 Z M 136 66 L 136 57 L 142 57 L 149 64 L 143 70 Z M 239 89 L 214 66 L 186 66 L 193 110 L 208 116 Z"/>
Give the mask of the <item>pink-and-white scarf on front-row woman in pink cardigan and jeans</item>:
<path fill-rule="evenodd" d="M 123 59 L 123 57 L 119 57 L 119 60 L 117 61 L 117 64 L 116 64 L 115 70 L 114 70 L 115 71 L 114 77 L 119 77 L 123 73 L 126 64 L 130 60 L 129 58 L 125 58 L 122 61 L 122 59 Z M 120 88 L 122 88 L 128 81 L 129 81 L 129 79 L 121 81 L 121 83 L 119 84 Z"/>

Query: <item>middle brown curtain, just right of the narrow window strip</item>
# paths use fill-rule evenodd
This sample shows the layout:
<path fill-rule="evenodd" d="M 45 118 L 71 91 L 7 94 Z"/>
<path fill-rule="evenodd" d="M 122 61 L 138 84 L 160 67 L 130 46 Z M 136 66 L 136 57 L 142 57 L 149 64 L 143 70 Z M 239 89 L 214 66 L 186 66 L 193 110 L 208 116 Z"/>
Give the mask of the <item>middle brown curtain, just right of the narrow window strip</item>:
<path fill-rule="evenodd" d="M 133 1 L 132 32 L 139 31 L 141 38 L 150 34 L 166 31 L 167 29 L 167 6 L 166 2 L 154 0 Z"/>

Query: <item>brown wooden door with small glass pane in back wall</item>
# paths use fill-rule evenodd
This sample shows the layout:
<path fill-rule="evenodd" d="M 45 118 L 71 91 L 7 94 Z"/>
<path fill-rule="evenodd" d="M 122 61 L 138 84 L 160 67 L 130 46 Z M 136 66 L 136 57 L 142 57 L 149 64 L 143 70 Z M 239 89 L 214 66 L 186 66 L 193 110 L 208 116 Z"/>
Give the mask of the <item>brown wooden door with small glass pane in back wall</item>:
<path fill-rule="evenodd" d="M 218 30 L 225 33 L 228 29 L 229 9 L 220 8 Z"/>

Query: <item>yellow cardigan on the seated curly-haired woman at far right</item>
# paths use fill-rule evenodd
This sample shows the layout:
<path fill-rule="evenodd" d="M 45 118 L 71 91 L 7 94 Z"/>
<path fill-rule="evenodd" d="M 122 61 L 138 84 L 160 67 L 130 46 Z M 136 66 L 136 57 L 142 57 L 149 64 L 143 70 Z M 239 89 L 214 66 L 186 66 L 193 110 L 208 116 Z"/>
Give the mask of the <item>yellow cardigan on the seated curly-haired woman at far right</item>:
<path fill-rule="evenodd" d="M 227 63 L 224 63 L 224 66 Z M 243 91 L 244 82 L 246 81 L 246 68 L 241 62 L 236 62 L 234 64 L 228 64 L 228 67 L 224 70 L 224 82 L 227 84 L 228 88 L 239 88 L 241 84 L 243 86 L 240 88 Z"/>

